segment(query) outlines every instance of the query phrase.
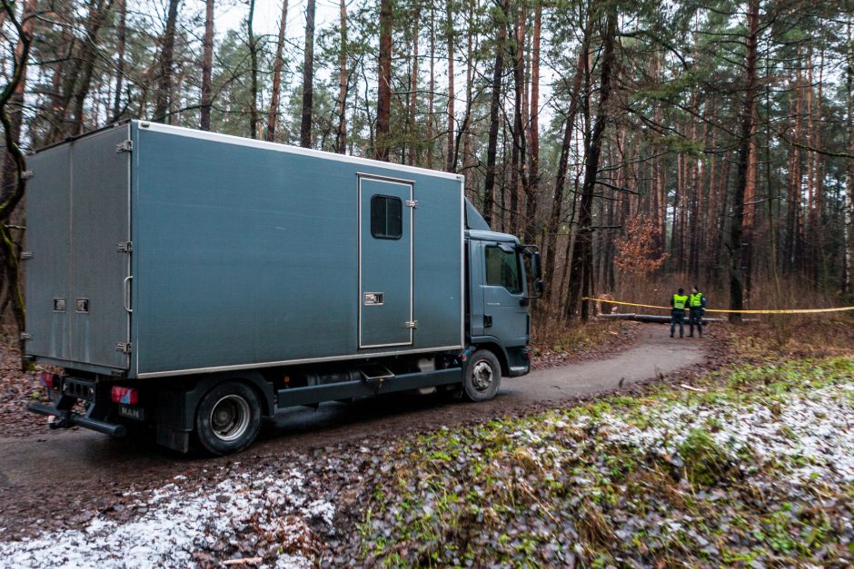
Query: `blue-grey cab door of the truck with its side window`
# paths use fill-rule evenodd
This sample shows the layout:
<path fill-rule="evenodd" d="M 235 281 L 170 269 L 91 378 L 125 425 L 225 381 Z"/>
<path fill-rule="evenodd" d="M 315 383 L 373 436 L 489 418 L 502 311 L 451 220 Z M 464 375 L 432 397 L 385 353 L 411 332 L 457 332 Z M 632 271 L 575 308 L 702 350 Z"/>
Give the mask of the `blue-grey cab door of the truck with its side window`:
<path fill-rule="evenodd" d="M 524 346 L 529 338 L 528 301 L 520 255 L 511 243 L 484 242 L 483 333 L 505 348 Z"/>

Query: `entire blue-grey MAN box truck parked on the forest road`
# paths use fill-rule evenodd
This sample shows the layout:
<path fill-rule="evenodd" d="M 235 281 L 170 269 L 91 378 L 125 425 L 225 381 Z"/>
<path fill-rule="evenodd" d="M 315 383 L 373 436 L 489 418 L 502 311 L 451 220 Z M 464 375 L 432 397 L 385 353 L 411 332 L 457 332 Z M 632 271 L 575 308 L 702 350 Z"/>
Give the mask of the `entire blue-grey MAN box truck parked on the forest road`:
<path fill-rule="evenodd" d="M 51 427 L 216 455 L 295 406 L 491 398 L 530 369 L 539 253 L 462 176 L 130 121 L 29 158 L 26 355 Z"/>

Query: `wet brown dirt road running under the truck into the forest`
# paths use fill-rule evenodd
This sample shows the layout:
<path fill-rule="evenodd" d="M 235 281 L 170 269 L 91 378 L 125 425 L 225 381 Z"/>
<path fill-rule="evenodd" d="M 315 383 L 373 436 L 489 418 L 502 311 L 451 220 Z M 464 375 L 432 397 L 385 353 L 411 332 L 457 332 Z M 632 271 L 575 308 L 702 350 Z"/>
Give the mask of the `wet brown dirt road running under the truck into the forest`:
<path fill-rule="evenodd" d="M 708 339 L 671 339 L 663 326 L 648 325 L 637 343 L 613 358 L 535 371 L 504 379 L 485 404 L 449 401 L 446 396 L 376 397 L 353 404 L 294 409 L 268 427 L 240 456 L 225 459 L 177 456 L 151 443 L 111 439 L 84 430 L 0 438 L 0 529 L 13 535 L 80 525 L 109 508 L 115 496 L 159 486 L 188 471 L 206 472 L 235 461 L 290 459 L 323 452 L 340 443 L 361 444 L 442 425 L 486 419 L 572 397 L 611 391 L 660 374 L 700 366 Z M 50 520 L 50 522 L 45 522 Z"/>

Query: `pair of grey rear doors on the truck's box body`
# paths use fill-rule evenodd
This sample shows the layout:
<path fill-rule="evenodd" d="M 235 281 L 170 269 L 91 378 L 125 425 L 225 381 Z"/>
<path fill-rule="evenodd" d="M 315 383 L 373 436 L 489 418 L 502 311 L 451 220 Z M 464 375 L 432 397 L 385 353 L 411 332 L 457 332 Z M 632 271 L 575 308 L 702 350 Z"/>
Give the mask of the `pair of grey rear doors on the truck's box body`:
<path fill-rule="evenodd" d="M 29 159 L 27 352 L 128 368 L 130 126 L 95 132 Z M 129 309 L 129 307 L 127 307 Z"/>

